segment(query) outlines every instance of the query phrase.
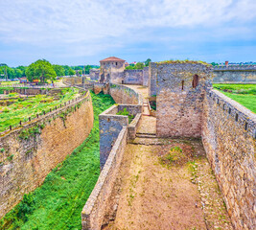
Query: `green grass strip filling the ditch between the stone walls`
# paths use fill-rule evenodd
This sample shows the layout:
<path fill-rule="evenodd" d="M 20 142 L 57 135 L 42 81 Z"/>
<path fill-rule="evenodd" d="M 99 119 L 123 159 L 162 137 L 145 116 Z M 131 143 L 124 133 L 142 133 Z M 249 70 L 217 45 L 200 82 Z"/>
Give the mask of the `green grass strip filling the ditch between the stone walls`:
<path fill-rule="evenodd" d="M 92 93 L 92 99 L 95 120 L 87 139 L 0 220 L 0 229 L 81 229 L 82 207 L 100 174 L 98 115 L 114 104 L 108 95 Z"/>

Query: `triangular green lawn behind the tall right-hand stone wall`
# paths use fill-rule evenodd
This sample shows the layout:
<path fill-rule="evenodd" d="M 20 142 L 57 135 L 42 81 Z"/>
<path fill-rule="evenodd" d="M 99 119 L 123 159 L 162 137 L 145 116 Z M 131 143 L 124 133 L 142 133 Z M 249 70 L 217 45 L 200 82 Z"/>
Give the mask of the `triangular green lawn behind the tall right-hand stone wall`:
<path fill-rule="evenodd" d="M 214 84 L 225 96 L 256 113 L 256 84 Z"/>

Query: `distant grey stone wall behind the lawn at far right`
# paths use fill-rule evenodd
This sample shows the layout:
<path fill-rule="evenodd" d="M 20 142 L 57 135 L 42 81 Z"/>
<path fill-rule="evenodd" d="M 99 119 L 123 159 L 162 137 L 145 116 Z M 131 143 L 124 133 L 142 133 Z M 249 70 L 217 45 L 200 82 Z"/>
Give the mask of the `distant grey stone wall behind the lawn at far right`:
<path fill-rule="evenodd" d="M 214 83 L 256 83 L 256 66 L 216 66 Z"/>

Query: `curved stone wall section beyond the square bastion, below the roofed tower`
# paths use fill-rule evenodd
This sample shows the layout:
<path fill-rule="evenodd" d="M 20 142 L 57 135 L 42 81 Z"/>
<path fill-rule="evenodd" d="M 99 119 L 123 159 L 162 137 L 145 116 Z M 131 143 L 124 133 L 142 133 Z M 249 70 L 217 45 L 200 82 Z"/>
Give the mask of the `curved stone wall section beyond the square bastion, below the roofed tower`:
<path fill-rule="evenodd" d="M 117 104 L 143 104 L 141 96 L 122 84 L 110 84 L 109 94 Z"/>

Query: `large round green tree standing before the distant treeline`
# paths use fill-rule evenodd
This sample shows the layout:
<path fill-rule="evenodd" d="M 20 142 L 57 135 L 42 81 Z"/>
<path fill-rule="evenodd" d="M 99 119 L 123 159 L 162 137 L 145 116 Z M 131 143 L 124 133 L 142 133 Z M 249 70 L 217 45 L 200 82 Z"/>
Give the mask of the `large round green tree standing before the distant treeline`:
<path fill-rule="evenodd" d="M 26 76 L 29 81 L 40 80 L 41 82 L 45 82 L 46 80 L 54 81 L 57 75 L 48 60 L 38 59 L 29 65 L 26 70 Z"/>

